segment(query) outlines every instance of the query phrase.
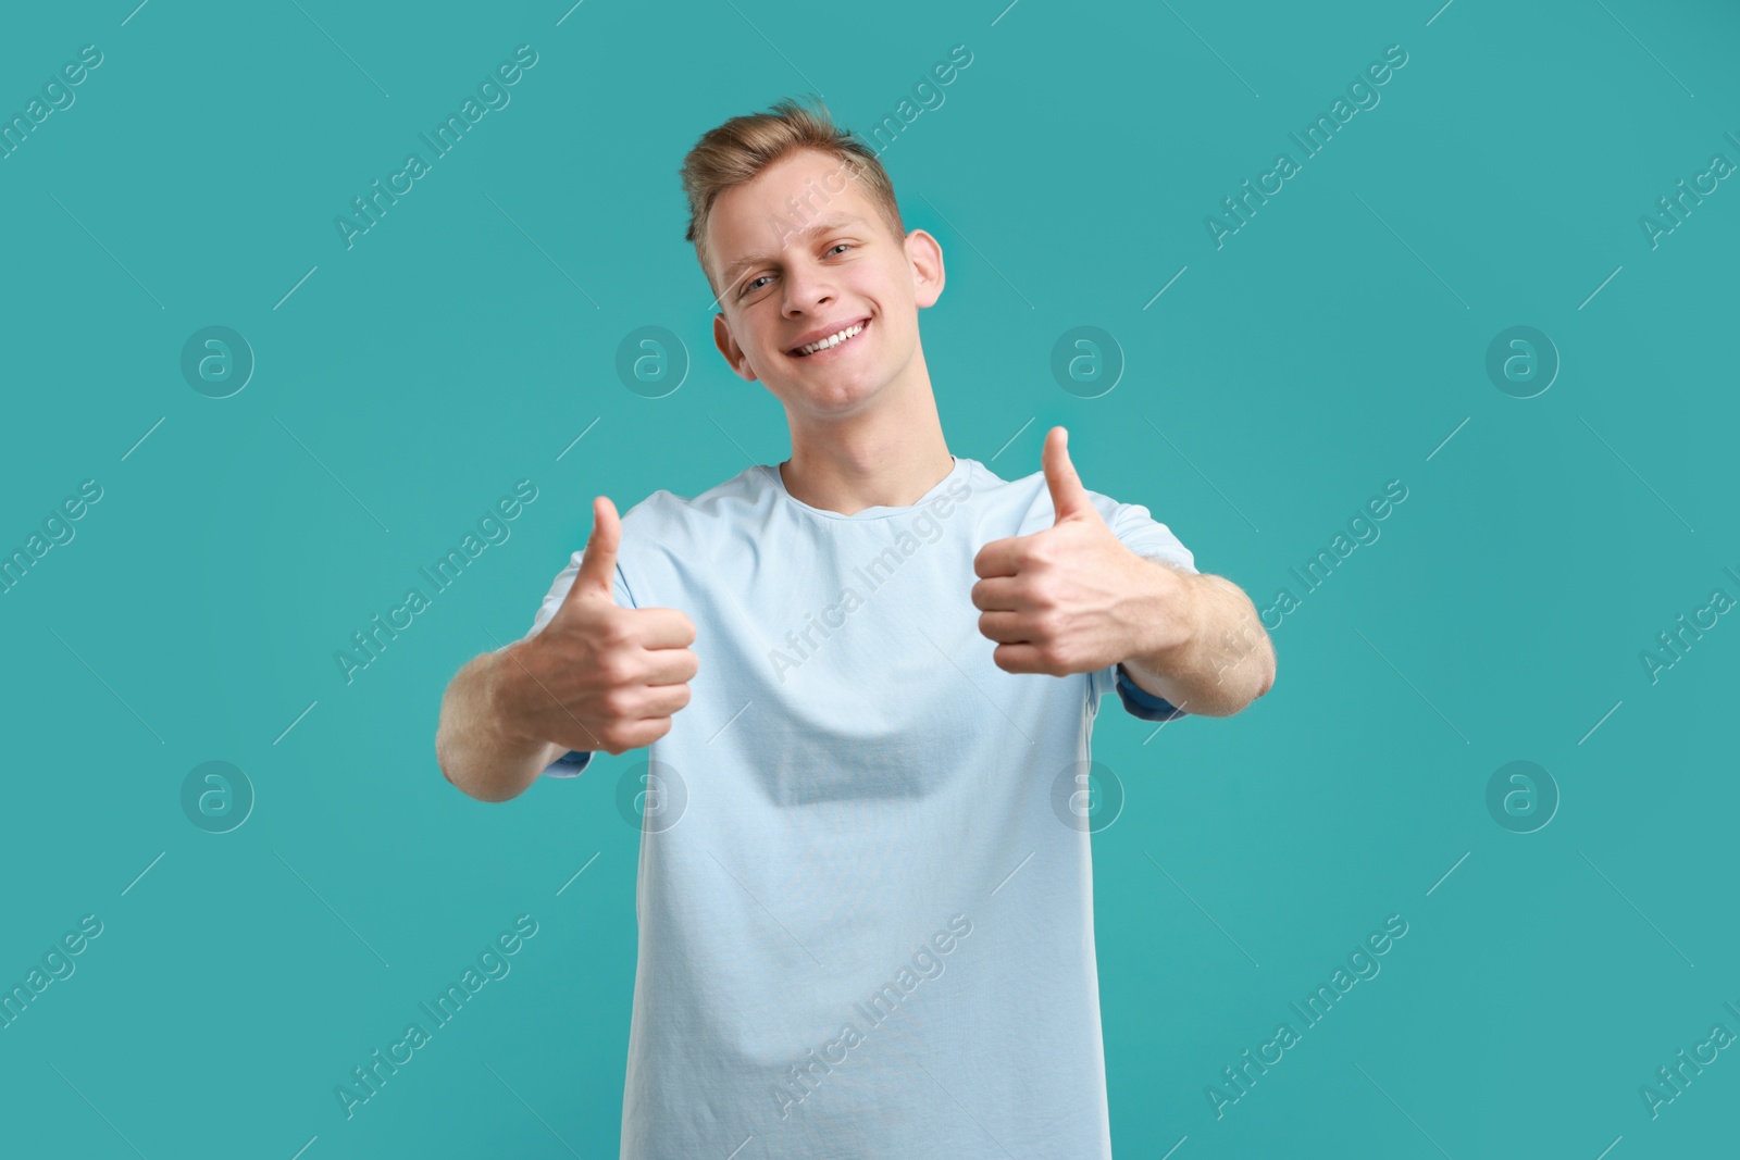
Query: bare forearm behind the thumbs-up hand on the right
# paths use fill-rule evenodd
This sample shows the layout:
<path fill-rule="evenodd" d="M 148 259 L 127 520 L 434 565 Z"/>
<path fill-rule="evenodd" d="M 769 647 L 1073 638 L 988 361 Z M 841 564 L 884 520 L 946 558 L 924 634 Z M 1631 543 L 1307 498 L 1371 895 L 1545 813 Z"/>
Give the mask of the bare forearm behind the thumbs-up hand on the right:
<path fill-rule="evenodd" d="M 1237 584 L 1176 569 L 1173 576 L 1183 581 L 1176 591 L 1185 603 L 1185 638 L 1164 649 L 1143 647 L 1124 668 L 1136 685 L 1187 713 L 1232 717 L 1274 685 L 1274 645 Z"/>

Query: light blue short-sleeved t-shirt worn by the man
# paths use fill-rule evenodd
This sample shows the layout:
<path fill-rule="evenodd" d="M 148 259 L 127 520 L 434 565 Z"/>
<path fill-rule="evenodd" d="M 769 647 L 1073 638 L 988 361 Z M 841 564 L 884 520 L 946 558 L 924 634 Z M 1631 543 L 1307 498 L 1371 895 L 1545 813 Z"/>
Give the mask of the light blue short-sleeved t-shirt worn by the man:
<path fill-rule="evenodd" d="M 1089 497 L 1197 570 L 1145 506 Z M 1119 666 L 992 663 L 973 558 L 1053 522 L 1042 473 L 960 457 L 910 508 L 823 511 L 757 464 L 623 515 L 616 602 L 686 612 L 699 661 L 637 755 L 623 1160 L 1112 1155 L 1079 776 L 1105 694 L 1183 713 Z"/>

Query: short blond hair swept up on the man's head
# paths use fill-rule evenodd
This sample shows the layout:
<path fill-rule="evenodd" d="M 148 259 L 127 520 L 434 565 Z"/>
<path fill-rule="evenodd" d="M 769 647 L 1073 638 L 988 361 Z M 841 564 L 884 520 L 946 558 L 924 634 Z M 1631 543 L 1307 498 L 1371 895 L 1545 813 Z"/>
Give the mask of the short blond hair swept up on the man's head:
<path fill-rule="evenodd" d="M 694 243 L 694 256 L 715 292 L 722 294 L 724 287 L 713 282 L 713 271 L 706 264 L 710 245 L 706 216 L 713 202 L 726 190 L 755 179 L 764 169 L 799 150 L 816 150 L 839 158 L 847 176 L 860 183 L 870 203 L 882 214 L 894 238 L 907 237 L 907 226 L 900 219 L 900 202 L 894 198 L 894 183 L 889 181 L 875 150 L 853 130 L 837 127 L 820 96 L 814 97 L 814 108 L 802 99 L 785 97 L 766 113 L 733 117 L 710 129 L 682 158 L 679 172 L 689 198 L 689 230 L 684 238 Z"/>

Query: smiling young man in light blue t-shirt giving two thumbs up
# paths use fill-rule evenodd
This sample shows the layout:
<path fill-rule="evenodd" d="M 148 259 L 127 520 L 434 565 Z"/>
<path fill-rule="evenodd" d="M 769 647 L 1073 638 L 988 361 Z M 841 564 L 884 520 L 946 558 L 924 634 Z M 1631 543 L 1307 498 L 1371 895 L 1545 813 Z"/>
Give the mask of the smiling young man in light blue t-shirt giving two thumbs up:
<path fill-rule="evenodd" d="M 1093 717 L 1237 713 L 1268 638 L 1061 428 L 1013 482 L 948 452 L 941 249 L 825 108 L 682 174 L 715 341 L 792 457 L 597 497 L 532 630 L 454 677 L 442 770 L 505 800 L 651 746 L 625 1158 L 1110 1157 Z"/>

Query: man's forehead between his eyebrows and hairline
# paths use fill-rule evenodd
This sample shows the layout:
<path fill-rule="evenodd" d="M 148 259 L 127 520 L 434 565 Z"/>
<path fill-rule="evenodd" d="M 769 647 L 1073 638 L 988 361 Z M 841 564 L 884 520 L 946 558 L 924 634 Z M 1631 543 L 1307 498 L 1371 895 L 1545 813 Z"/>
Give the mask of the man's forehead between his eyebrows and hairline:
<path fill-rule="evenodd" d="M 802 242 L 807 235 L 800 231 L 847 217 L 873 223 L 875 209 L 846 162 L 800 150 L 720 193 L 706 224 L 720 271 L 731 278 L 745 264 Z"/>

